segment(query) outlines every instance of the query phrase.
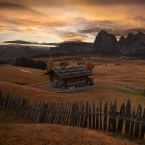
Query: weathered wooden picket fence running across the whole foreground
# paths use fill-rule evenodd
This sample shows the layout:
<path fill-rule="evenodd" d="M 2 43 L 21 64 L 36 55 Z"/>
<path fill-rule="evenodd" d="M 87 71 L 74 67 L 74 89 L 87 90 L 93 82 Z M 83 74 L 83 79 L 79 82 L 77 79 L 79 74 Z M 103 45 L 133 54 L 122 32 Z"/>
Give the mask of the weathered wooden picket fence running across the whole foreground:
<path fill-rule="evenodd" d="M 130 100 L 123 103 L 120 112 L 117 112 L 117 103 L 106 102 L 89 104 L 83 102 L 58 102 L 45 103 L 31 102 L 21 96 L 13 96 L 0 90 L 0 106 L 8 108 L 16 114 L 35 123 L 51 123 L 70 126 L 91 128 L 110 132 L 119 132 L 135 138 L 144 138 L 145 109 L 139 105 L 137 112 L 132 110 Z"/>

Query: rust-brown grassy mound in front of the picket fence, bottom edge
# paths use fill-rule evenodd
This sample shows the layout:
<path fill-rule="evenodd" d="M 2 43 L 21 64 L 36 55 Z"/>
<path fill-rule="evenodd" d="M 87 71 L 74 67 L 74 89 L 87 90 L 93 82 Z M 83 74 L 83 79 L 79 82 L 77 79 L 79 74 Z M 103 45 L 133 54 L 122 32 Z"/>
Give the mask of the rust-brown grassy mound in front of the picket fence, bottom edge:
<path fill-rule="evenodd" d="M 137 145 L 101 132 L 60 125 L 0 125 L 1 145 Z"/>

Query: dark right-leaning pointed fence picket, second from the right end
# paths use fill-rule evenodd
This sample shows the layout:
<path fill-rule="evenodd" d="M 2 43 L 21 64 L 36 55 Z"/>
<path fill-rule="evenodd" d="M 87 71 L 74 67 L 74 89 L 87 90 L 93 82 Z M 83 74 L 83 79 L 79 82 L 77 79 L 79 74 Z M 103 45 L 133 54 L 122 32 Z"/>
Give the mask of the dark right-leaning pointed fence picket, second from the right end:
<path fill-rule="evenodd" d="M 139 105 L 137 108 L 137 116 L 136 116 L 136 123 L 135 123 L 135 133 L 134 133 L 135 138 L 139 138 L 141 111 L 142 111 L 142 108 Z"/>

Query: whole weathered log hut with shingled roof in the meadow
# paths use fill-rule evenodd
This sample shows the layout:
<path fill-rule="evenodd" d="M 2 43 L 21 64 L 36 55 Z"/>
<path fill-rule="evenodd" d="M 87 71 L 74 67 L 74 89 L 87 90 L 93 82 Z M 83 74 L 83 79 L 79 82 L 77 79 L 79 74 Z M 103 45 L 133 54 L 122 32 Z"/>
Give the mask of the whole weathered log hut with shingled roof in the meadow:
<path fill-rule="evenodd" d="M 59 88 L 91 85 L 93 81 L 88 77 L 92 73 L 82 66 L 54 67 L 44 75 L 49 75 L 50 83 Z"/>

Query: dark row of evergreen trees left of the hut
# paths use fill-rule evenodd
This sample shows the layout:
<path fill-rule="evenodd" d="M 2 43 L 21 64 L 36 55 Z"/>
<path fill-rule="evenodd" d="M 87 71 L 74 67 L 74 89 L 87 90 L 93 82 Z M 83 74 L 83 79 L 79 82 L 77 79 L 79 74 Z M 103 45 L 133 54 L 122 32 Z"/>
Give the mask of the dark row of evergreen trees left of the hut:
<path fill-rule="evenodd" d="M 35 61 L 34 59 L 27 57 L 16 58 L 13 65 L 21 67 L 37 68 L 42 70 L 46 69 L 46 62 L 42 60 Z"/>

